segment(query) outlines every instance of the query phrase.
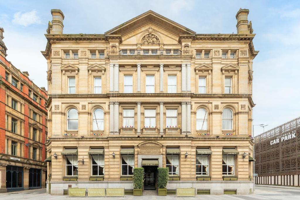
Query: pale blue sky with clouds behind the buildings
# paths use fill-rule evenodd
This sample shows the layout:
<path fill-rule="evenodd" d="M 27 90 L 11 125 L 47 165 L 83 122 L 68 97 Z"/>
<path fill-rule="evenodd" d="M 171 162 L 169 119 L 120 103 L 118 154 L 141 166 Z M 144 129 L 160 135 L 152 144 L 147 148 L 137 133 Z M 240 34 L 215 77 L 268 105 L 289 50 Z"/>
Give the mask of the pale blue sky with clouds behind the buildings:
<path fill-rule="evenodd" d="M 235 14 L 250 10 L 259 54 L 253 63 L 253 124 L 265 130 L 300 115 L 300 1 L 0 1 L 7 59 L 46 87 L 45 49 L 51 9 L 64 13 L 64 33 L 104 33 L 153 10 L 197 33 L 236 33 Z M 255 135 L 262 127 L 255 127 Z"/>

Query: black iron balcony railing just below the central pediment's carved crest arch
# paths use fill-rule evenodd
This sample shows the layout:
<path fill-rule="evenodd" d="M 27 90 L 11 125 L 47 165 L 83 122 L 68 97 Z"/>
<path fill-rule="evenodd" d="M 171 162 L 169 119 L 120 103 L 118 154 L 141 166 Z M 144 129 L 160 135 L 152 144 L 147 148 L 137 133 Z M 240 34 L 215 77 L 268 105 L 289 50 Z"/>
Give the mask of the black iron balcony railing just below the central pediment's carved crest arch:
<path fill-rule="evenodd" d="M 181 55 L 179 49 L 122 49 L 119 55 Z"/>

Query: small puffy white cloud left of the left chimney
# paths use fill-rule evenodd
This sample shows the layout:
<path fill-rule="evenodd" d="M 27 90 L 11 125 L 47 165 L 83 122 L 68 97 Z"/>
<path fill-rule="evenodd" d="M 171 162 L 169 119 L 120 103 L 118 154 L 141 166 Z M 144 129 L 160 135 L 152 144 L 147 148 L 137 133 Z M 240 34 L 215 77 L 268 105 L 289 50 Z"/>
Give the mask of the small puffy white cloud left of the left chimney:
<path fill-rule="evenodd" d="M 32 10 L 27 13 L 18 12 L 13 15 L 13 23 L 23 26 L 28 26 L 31 24 L 41 24 L 41 19 L 37 15 L 36 10 Z"/>

